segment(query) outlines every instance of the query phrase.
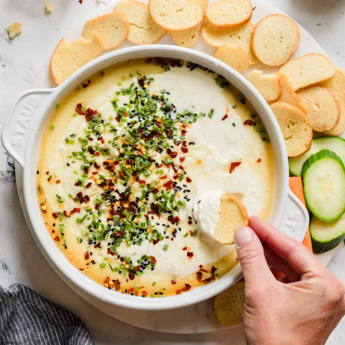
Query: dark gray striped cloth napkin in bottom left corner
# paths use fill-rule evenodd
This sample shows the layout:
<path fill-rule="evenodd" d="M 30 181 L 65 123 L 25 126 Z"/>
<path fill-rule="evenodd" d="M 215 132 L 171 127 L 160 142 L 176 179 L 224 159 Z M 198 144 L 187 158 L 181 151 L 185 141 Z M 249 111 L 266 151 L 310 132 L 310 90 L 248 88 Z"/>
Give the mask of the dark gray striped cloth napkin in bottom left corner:
<path fill-rule="evenodd" d="M 94 345 L 73 313 L 22 284 L 0 286 L 1 345 Z"/>

